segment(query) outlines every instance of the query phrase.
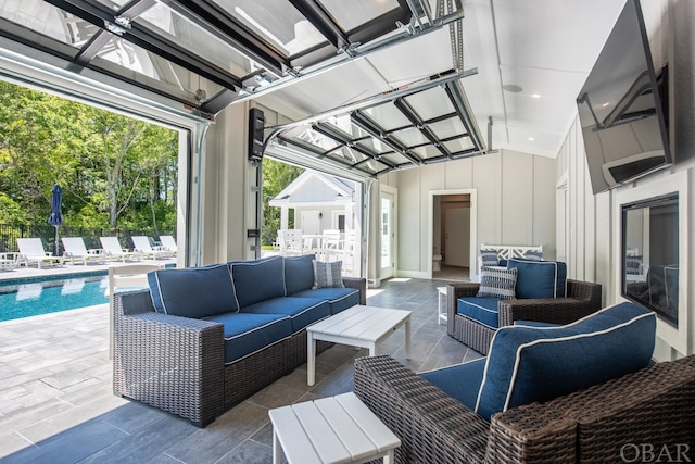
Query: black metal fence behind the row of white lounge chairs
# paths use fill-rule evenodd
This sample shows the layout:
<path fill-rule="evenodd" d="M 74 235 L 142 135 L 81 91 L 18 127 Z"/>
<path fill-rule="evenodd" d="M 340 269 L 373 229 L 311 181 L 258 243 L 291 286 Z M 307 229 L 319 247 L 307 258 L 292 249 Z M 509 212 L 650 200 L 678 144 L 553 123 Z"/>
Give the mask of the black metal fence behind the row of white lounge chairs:
<path fill-rule="evenodd" d="M 163 235 L 174 235 L 172 233 L 164 233 Z M 89 229 L 81 227 L 68 227 L 60 226 L 58 228 L 59 240 L 62 237 L 81 237 L 85 240 L 87 248 L 101 248 L 99 237 L 118 237 L 121 246 L 124 248 L 132 248 L 132 236 L 148 236 L 155 240 L 159 240 L 159 236 L 155 236 L 152 229 Z M 38 237 L 43 241 L 46 251 L 55 251 L 55 227 L 51 225 L 34 225 L 34 226 L 11 226 L 7 224 L 0 224 L 0 253 L 20 251 L 17 249 L 17 238 L 30 238 Z M 60 249 L 63 249 L 61 243 Z"/>

